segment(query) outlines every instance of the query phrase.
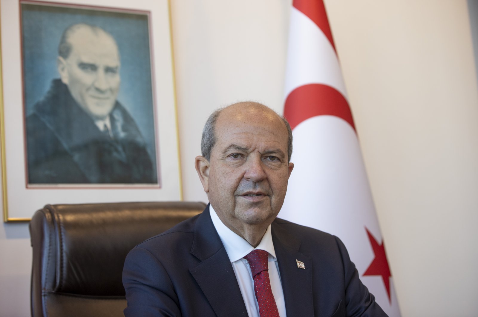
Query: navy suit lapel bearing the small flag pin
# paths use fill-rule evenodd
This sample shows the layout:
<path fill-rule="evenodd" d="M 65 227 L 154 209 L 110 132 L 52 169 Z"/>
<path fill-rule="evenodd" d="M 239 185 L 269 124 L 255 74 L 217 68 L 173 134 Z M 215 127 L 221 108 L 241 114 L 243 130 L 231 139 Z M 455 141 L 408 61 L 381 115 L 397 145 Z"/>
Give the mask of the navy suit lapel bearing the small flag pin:
<path fill-rule="evenodd" d="M 279 264 L 287 316 L 314 316 L 312 259 L 299 252 L 301 241 L 272 222 L 272 242 Z M 299 268 L 297 261 L 304 263 Z"/>

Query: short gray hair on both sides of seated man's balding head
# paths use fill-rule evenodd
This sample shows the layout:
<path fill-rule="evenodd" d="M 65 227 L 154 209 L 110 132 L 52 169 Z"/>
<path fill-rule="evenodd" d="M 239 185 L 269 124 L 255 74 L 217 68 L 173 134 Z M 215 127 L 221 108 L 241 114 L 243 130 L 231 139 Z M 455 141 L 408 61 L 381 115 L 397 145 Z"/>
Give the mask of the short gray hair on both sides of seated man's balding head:
<path fill-rule="evenodd" d="M 263 106 L 263 105 L 262 105 Z M 265 106 L 266 108 L 272 110 L 271 108 Z M 217 137 L 216 137 L 216 122 L 217 118 L 221 114 L 222 110 L 227 107 L 219 108 L 215 110 L 206 120 L 206 124 L 204 125 L 203 135 L 201 137 L 201 155 L 204 156 L 207 160 L 211 159 L 211 152 L 212 148 L 216 144 Z M 273 111 L 273 110 L 272 110 Z M 274 111 L 275 112 L 275 111 Z M 277 113 L 276 113 L 277 114 Z M 292 129 L 287 119 L 283 116 L 277 114 L 285 124 L 287 128 L 287 162 L 291 161 L 292 156 Z"/>

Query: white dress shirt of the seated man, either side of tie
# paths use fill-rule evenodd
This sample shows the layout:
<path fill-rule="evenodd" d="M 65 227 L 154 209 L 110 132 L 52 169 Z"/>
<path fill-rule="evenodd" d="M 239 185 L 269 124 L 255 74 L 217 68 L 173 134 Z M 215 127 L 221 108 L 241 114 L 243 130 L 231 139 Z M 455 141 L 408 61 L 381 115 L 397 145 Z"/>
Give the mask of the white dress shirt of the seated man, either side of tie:
<path fill-rule="evenodd" d="M 274 245 L 272 243 L 271 225 L 267 227 L 266 233 L 262 237 L 261 243 L 254 249 L 246 240 L 241 238 L 235 232 L 232 232 L 217 216 L 216 211 L 209 205 L 212 223 L 216 228 L 219 238 L 228 253 L 234 274 L 238 280 L 239 289 L 246 304 L 249 317 L 259 316 L 259 304 L 254 294 L 254 280 L 250 272 L 249 263 L 243 257 L 255 249 L 264 250 L 269 253 L 269 279 L 271 281 L 272 294 L 274 295 L 277 310 L 280 317 L 285 317 L 284 293 L 282 292 L 281 276 L 279 275 L 279 266 L 275 256 Z"/>

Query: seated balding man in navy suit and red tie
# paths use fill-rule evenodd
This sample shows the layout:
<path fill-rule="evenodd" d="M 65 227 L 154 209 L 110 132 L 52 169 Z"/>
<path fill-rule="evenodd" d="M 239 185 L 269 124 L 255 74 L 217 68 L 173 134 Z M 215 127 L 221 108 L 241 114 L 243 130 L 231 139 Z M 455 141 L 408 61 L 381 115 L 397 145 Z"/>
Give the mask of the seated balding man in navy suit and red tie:
<path fill-rule="evenodd" d="M 201 148 L 210 204 L 131 250 L 126 316 L 386 316 L 337 237 L 276 218 L 293 170 L 285 119 L 228 106 L 207 120 Z"/>

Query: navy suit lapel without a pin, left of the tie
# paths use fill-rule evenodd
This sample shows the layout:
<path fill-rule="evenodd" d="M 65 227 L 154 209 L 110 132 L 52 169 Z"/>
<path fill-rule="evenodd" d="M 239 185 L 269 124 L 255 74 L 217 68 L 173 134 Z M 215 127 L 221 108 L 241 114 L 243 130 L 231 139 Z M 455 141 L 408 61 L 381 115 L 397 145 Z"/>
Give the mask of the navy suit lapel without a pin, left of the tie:
<path fill-rule="evenodd" d="M 218 317 L 247 316 L 246 306 L 226 249 L 209 215 L 209 205 L 198 218 L 191 254 L 201 263 L 189 272 Z"/>

